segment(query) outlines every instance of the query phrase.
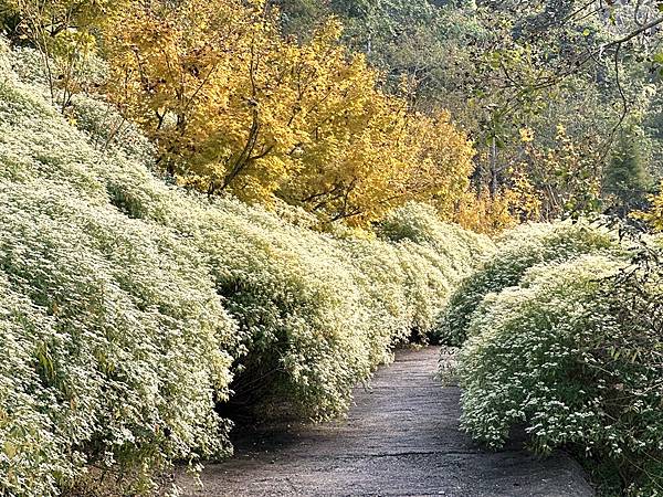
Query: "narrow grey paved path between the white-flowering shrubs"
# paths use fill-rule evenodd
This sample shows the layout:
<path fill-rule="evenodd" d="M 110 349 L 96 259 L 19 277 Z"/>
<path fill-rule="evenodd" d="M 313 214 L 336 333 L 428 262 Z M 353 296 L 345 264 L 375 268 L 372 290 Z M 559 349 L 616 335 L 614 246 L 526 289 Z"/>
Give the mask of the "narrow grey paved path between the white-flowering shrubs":
<path fill-rule="evenodd" d="M 402 351 L 358 389 L 344 422 L 257 432 L 208 466 L 188 496 L 591 496 L 564 454 L 483 451 L 459 431 L 459 390 L 434 379 L 436 348 Z"/>

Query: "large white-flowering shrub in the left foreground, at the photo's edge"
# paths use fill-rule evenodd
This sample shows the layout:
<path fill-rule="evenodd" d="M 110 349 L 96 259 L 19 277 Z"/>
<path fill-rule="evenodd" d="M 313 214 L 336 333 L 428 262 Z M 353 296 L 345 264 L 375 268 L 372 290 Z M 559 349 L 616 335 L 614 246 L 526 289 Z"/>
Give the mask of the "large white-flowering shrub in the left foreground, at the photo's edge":
<path fill-rule="evenodd" d="M 113 207 L 103 157 L 3 76 L 0 487 L 52 495 L 95 466 L 149 490 L 170 461 L 228 453 L 235 325 L 202 256 Z"/>

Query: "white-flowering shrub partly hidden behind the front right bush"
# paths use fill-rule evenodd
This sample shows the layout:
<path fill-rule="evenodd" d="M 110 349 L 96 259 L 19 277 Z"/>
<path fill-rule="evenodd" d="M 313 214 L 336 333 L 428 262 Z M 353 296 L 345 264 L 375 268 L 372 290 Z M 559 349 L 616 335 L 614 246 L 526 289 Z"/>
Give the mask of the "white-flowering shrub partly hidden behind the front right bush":
<path fill-rule="evenodd" d="M 517 285 L 529 268 L 589 253 L 619 253 L 618 234 L 588 221 L 525 224 L 498 241 L 497 252 L 457 285 L 433 336 L 442 343 L 461 346 L 472 314 L 491 292 Z"/>

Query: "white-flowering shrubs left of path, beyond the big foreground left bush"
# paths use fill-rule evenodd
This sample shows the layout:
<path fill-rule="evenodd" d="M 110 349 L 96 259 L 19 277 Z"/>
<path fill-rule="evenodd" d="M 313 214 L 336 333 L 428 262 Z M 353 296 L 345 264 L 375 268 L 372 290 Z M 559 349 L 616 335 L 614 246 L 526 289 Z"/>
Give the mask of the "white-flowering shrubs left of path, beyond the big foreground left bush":
<path fill-rule="evenodd" d="M 145 212 L 164 212 L 157 203 Z M 345 412 L 354 385 L 394 342 L 432 327 L 453 283 L 448 256 L 431 246 L 320 234 L 233 200 L 189 199 L 160 222 L 200 241 L 241 326 L 246 353 L 235 363 L 233 402 L 242 410 Z"/>

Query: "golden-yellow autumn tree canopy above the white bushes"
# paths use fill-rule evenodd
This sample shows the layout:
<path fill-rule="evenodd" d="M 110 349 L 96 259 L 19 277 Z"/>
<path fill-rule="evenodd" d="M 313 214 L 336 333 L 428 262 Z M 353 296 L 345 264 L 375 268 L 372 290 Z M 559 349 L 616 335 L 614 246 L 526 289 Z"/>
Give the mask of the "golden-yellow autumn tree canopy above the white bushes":
<path fill-rule="evenodd" d="M 161 166 L 210 194 L 278 197 L 351 224 L 413 199 L 452 205 L 473 148 L 449 116 L 415 115 L 380 91 L 338 43 L 338 23 L 301 45 L 276 15 L 262 1 L 183 0 L 114 18 L 108 91 Z"/>

